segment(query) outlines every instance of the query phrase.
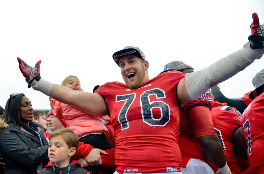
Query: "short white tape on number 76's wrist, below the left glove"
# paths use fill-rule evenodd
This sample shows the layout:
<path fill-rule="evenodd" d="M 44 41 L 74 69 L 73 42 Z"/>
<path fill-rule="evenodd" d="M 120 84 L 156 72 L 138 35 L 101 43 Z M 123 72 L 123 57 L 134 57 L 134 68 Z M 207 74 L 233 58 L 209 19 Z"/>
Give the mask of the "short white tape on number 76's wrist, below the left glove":
<path fill-rule="evenodd" d="M 31 80 L 28 80 L 27 82 L 29 83 Z M 50 91 L 52 89 L 52 86 L 53 84 L 46 81 L 46 80 L 43 80 L 43 79 L 40 79 L 39 81 L 37 80 L 33 80 L 31 83 L 30 83 L 30 86 L 37 90 L 37 91 L 40 91 L 42 92 L 43 94 L 46 94 L 46 95 L 50 95 Z"/>

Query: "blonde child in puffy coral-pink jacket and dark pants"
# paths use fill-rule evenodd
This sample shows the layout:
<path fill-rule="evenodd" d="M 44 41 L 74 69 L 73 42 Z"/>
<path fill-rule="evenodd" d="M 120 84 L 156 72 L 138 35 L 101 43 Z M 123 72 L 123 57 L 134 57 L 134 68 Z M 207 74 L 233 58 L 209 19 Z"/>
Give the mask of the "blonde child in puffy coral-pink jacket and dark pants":
<path fill-rule="evenodd" d="M 79 92 L 82 90 L 80 80 L 76 76 L 66 77 L 61 85 Z M 80 109 L 55 99 L 51 99 L 50 105 L 54 115 L 65 120 L 66 128 L 72 129 L 81 142 L 102 150 L 114 148 L 110 141 L 107 140 L 106 133 L 108 130 L 100 117 L 89 115 Z M 99 171 L 98 166 L 89 166 L 85 169 L 88 169 L 91 174 L 97 174 Z"/>

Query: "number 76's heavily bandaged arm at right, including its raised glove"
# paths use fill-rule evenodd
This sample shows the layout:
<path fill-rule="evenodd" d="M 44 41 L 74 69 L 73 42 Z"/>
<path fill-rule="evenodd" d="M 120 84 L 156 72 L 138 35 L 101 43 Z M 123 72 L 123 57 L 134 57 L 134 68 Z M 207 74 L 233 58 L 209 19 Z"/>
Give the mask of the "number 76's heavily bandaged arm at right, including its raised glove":
<path fill-rule="evenodd" d="M 242 49 L 200 71 L 186 74 L 185 85 L 180 85 L 179 82 L 177 87 L 177 95 L 181 105 L 188 103 L 189 99 L 196 99 L 211 87 L 229 79 L 239 71 L 244 70 L 254 60 L 263 56 L 264 32 L 261 29 L 264 28 L 264 25 L 260 25 L 258 21 L 257 14 L 253 13 L 253 23 L 250 26 L 251 35 L 248 37 L 250 42 L 244 44 Z M 184 89 L 182 89 L 183 87 Z"/>

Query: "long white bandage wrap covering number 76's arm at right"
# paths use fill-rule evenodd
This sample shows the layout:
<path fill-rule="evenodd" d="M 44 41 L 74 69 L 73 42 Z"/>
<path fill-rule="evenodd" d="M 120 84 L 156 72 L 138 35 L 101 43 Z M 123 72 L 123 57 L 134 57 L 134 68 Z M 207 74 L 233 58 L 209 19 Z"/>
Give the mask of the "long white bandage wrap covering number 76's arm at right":
<path fill-rule="evenodd" d="M 263 43 L 262 43 L 263 44 Z M 244 70 L 254 60 L 263 56 L 264 49 L 251 49 L 250 43 L 235 53 L 224 57 L 206 68 L 185 75 L 185 93 L 195 100 L 211 88 L 211 81 L 221 83 Z"/>

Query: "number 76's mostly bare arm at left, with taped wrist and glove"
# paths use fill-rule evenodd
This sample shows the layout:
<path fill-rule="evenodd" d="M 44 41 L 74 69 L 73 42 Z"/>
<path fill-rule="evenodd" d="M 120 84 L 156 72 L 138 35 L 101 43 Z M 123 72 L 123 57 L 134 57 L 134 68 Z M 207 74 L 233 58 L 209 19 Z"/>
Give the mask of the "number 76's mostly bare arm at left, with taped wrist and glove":
<path fill-rule="evenodd" d="M 41 61 L 38 61 L 34 67 L 31 67 L 19 57 L 17 57 L 17 60 L 21 73 L 33 89 L 91 115 L 102 116 L 108 114 L 104 99 L 100 94 L 77 92 L 65 86 L 52 84 L 40 77 L 39 65 Z"/>

